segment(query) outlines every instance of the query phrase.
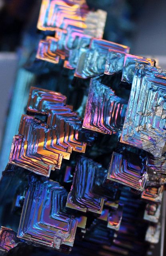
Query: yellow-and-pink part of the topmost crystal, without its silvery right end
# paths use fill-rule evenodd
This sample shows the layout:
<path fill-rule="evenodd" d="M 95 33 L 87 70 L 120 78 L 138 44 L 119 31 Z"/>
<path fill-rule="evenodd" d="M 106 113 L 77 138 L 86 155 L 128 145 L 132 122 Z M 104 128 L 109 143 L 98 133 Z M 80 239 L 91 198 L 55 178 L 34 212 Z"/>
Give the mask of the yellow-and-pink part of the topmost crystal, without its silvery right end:
<path fill-rule="evenodd" d="M 85 0 L 42 0 L 37 28 L 43 31 L 55 31 L 55 28 L 66 29 L 68 25 L 86 28 L 88 14 Z"/>

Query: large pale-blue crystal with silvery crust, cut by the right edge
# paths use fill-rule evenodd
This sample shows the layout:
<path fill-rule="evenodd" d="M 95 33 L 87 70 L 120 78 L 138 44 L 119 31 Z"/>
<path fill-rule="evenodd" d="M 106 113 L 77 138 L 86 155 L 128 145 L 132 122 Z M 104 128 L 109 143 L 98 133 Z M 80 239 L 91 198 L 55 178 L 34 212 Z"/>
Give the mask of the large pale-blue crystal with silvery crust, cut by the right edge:
<path fill-rule="evenodd" d="M 137 64 L 121 142 L 161 157 L 166 142 L 166 73 Z"/>

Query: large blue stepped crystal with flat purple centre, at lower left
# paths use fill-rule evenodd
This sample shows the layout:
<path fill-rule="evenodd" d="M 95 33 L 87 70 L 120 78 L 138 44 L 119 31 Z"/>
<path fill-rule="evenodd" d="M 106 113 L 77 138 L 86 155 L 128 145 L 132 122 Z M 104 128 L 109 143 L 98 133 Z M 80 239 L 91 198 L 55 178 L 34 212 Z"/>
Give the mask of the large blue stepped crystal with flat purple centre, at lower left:
<path fill-rule="evenodd" d="M 56 249 L 65 245 L 70 250 L 78 220 L 65 211 L 66 198 L 58 182 L 34 178 L 26 192 L 18 237 Z"/>

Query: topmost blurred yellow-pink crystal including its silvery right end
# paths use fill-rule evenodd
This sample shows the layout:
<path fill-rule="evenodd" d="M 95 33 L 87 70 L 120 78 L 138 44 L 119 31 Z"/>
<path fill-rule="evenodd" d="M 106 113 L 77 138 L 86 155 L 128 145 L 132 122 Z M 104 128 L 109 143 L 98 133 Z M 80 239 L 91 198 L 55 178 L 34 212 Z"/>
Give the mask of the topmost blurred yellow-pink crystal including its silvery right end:
<path fill-rule="evenodd" d="M 79 28 L 84 34 L 102 38 L 106 12 L 88 9 L 85 0 L 43 0 L 37 28 L 43 31 Z"/>

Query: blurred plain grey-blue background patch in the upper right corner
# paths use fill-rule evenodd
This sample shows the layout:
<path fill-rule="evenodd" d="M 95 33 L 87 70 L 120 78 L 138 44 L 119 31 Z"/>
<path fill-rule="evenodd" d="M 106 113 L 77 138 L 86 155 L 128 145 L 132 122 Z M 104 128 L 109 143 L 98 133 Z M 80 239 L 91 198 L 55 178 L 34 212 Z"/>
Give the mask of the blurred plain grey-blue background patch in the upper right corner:
<path fill-rule="evenodd" d="M 166 0 L 144 0 L 131 51 L 137 55 L 166 56 Z"/>

